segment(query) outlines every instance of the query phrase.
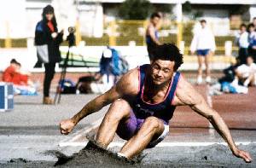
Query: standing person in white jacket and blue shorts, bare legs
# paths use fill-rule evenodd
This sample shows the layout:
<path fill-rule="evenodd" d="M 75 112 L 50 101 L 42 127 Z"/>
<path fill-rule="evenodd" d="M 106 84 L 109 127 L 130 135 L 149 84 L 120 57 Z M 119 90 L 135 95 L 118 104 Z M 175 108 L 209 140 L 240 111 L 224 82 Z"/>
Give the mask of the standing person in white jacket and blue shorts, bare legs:
<path fill-rule="evenodd" d="M 195 32 L 194 38 L 190 45 L 191 54 L 194 55 L 195 51 L 198 58 L 198 75 L 197 84 L 202 83 L 202 64 L 205 62 L 207 78 L 206 82 L 211 82 L 210 74 L 210 56 L 215 51 L 215 39 L 212 31 L 207 27 L 207 20 L 201 20 L 201 28 Z"/>

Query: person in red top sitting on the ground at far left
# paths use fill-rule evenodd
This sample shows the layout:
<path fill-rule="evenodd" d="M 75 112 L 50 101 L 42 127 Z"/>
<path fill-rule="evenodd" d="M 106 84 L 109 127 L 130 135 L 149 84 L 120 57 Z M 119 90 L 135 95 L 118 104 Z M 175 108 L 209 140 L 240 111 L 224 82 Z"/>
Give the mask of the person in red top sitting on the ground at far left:
<path fill-rule="evenodd" d="M 15 95 L 36 95 L 35 84 L 29 79 L 29 72 L 21 72 L 20 62 L 12 59 L 9 67 L 3 72 L 3 82 L 14 84 Z"/>

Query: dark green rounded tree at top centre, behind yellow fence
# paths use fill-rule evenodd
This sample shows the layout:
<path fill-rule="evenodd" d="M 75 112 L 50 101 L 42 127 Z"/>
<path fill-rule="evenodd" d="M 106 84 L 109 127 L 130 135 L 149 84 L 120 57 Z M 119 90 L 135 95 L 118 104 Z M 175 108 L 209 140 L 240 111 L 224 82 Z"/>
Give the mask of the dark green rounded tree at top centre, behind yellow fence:
<path fill-rule="evenodd" d="M 119 17 L 124 20 L 145 20 L 152 10 L 148 0 L 125 0 L 119 8 Z"/>

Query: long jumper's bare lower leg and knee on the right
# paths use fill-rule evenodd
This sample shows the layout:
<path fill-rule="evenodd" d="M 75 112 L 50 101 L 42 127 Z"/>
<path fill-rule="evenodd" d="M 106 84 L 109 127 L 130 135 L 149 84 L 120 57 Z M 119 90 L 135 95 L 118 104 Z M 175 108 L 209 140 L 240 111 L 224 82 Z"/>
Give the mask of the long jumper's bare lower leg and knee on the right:
<path fill-rule="evenodd" d="M 164 130 L 164 123 L 160 119 L 148 117 L 137 134 L 131 137 L 124 147 L 121 148 L 120 154 L 131 159 L 133 156 L 140 154 L 148 146 L 148 143 L 157 139 Z"/>

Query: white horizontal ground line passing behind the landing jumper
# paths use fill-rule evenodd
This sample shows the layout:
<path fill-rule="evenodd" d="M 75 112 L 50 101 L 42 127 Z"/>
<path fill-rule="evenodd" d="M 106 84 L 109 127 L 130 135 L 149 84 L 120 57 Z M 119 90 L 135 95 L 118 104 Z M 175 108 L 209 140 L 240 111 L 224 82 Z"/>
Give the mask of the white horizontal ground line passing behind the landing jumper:
<path fill-rule="evenodd" d="M 62 147 L 71 146 L 71 147 L 85 147 L 88 141 L 85 142 L 63 142 Z M 236 145 L 248 145 L 250 143 L 256 142 L 236 142 Z M 205 147 L 213 144 L 225 145 L 228 144 L 226 142 L 160 142 L 156 147 Z M 125 142 L 111 142 L 108 145 L 108 148 L 113 147 L 123 147 Z"/>

